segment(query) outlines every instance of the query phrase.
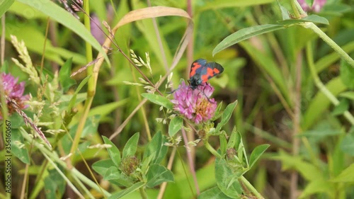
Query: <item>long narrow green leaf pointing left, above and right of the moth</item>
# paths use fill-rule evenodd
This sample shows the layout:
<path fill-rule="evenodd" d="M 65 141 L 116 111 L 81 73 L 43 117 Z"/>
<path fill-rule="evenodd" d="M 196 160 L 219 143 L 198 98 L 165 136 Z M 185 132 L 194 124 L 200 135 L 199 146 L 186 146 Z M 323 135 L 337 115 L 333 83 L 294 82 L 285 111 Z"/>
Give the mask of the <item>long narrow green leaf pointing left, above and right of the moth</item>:
<path fill-rule="evenodd" d="M 231 35 L 227 36 L 227 38 L 224 38 L 222 42 L 219 42 L 219 44 L 214 48 L 214 50 L 212 50 L 212 56 L 214 56 L 215 54 L 217 54 L 217 52 L 220 52 L 227 47 L 230 47 L 243 40 L 249 39 L 253 36 L 269 33 L 284 28 L 285 27 L 283 25 L 266 24 L 266 25 L 257 25 L 257 26 L 241 29 L 236 33 L 232 33 Z"/>

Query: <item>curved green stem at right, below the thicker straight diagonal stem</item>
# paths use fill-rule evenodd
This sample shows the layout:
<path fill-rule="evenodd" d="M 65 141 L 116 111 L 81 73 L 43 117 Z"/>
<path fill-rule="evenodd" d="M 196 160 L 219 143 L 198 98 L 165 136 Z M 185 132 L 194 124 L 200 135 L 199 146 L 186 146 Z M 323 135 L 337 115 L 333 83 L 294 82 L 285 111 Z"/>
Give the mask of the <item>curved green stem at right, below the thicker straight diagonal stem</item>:
<path fill-rule="evenodd" d="M 331 91 L 329 91 L 326 86 L 324 86 L 324 84 L 322 83 L 321 79 L 319 79 L 319 76 L 317 75 L 316 69 L 314 67 L 314 59 L 313 59 L 313 55 L 312 55 L 312 45 L 311 42 L 307 43 L 307 47 L 306 47 L 306 55 L 307 55 L 307 62 L 309 65 L 309 69 L 310 72 L 312 74 L 312 78 L 314 79 L 314 83 L 316 84 L 316 86 L 319 88 L 319 90 L 324 93 L 324 95 L 329 98 L 329 101 L 331 101 L 333 103 L 334 106 L 338 106 L 339 101 L 336 98 L 336 96 L 334 96 Z M 353 61 L 353 59 L 352 59 Z M 354 65 L 353 65 L 354 66 Z M 351 125 L 354 125 L 354 117 L 353 115 L 346 110 L 343 113 L 344 117 L 350 122 Z"/>

